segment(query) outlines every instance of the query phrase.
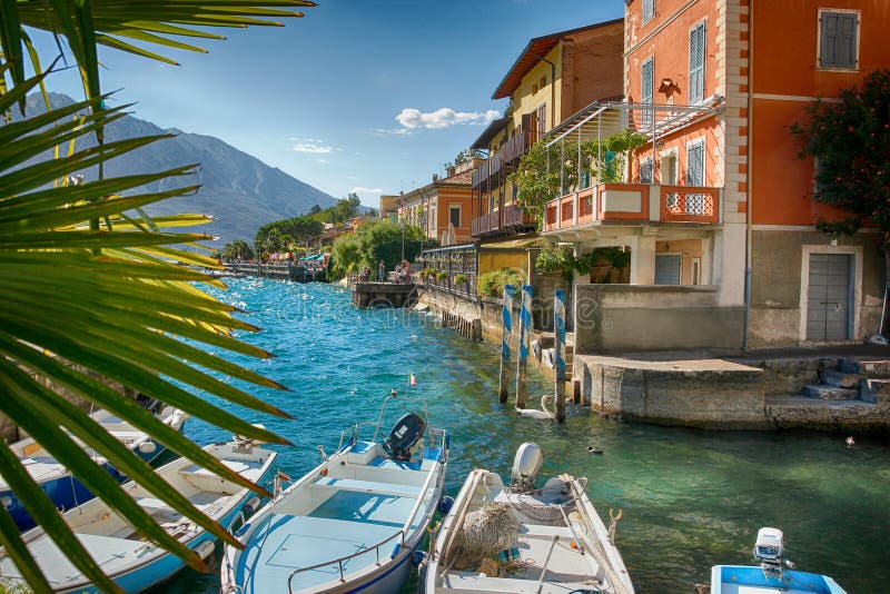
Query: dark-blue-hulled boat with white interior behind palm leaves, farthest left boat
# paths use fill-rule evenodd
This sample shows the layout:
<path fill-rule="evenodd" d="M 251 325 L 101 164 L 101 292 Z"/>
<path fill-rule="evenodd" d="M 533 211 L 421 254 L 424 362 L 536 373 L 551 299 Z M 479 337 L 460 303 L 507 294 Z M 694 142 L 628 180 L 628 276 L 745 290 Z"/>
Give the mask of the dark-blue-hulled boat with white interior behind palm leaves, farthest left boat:
<path fill-rule="evenodd" d="M 156 408 L 157 409 L 154 410 L 155 415 L 162 423 L 176 430 L 182 430 L 182 425 L 188 418 L 188 414 L 171 406 Z M 137 429 L 107 410 L 93 413 L 91 417 L 111 434 L 112 437 L 121 442 L 146 462 L 154 461 L 165 449 L 162 444 L 155 442 L 145 432 Z M 21 461 L 24 468 L 31 475 L 31 478 L 40 485 L 40 488 L 43 489 L 50 501 L 52 501 L 59 509 L 65 511 L 77 507 L 95 497 L 80 481 L 71 475 L 68 468 L 52 457 L 43 449 L 43 446 L 32 438 L 27 437 L 14 444 L 10 444 L 9 448 L 12 451 L 13 455 Z M 119 473 L 117 468 L 111 466 L 103 456 L 99 455 L 92 448 L 83 445 L 83 449 L 96 461 L 96 464 L 108 471 L 119 483 L 127 479 L 125 475 Z M 9 484 L 2 476 L 0 476 L 0 503 L 6 507 L 9 515 L 12 516 L 12 519 L 16 521 L 19 529 L 24 531 L 34 526 L 34 521 L 31 519 L 31 516 L 19 502 L 16 494 L 10 491 Z"/>

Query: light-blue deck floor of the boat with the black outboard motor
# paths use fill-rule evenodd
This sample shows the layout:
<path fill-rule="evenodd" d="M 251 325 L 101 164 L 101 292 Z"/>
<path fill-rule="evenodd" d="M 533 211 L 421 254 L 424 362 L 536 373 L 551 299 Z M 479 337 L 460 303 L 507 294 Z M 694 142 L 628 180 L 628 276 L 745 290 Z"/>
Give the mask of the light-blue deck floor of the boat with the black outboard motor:
<path fill-rule="evenodd" d="M 245 546 L 237 577 L 247 583 L 246 592 L 280 592 L 295 571 L 360 551 L 365 553 L 343 563 L 344 575 L 375 563 L 377 554 L 388 560 L 419 494 L 418 487 L 394 483 L 325 477 L 317 484 L 339 491 L 308 515 L 271 514 Z M 412 528 L 421 519 L 418 514 Z M 379 550 L 368 548 L 390 537 Z M 298 574 L 293 585 L 296 591 L 337 578 L 339 567 L 334 563 Z"/>

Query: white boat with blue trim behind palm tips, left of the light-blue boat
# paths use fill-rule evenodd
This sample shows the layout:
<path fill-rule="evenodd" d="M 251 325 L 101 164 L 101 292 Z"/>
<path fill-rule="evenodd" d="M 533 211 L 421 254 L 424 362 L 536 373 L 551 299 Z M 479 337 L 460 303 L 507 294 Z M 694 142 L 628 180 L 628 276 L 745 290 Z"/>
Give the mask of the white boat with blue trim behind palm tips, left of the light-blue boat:
<path fill-rule="evenodd" d="M 206 446 L 205 452 L 253 483 L 271 467 L 276 453 L 236 439 Z M 195 507 L 224 526 L 243 521 L 259 507 L 259 498 L 240 485 L 220 478 L 187 458 L 178 458 L 157 469 L 158 475 L 188 497 Z M 202 557 L 214 550 L 215 537 L 137 483 L 121 485 L 168 534 Z M 123 592 L 142 592 L 164 582 L 182 568 L 182 561 L 136 533 L 100 498 L 76 507 L 62 516 L 87 552 Z M 68 561 L 41 527 L 22 534 L 28 550 L 56 592 L 99 592 Z M 21 578 L 12 560 L 0 550 L 0 575 L 4 584 Z"/>

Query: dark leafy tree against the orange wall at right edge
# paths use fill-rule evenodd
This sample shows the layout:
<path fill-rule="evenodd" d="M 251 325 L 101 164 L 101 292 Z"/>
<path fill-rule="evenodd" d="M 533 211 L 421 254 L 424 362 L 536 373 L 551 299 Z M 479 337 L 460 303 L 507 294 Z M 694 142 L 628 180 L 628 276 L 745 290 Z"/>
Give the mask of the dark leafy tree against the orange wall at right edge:
<path fill-rule="evenodd" d="M 813 200 L 840 209 L 842 218 L 819 217 L 830 236 L 852 235 L 864 225 L 890 244 L 890 70 L 876 70 L 843 89 L 839 102 L 815 100 L 805 122 L 791 126 L 801 157 L 817 159 Z"/>

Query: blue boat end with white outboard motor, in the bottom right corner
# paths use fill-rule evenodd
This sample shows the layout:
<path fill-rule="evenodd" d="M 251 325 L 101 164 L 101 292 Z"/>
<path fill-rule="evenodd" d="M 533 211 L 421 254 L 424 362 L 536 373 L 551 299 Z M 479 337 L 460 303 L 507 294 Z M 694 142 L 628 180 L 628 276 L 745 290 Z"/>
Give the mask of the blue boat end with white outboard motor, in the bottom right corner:
<path fill-rule="evenodd" d="M 760 528 L 754 544 L 760 566 L 714 565 L 711 594 L 847 594 L 827 575 L 799 572 L 784 558 L 782 531 Z"/>

